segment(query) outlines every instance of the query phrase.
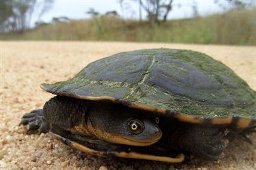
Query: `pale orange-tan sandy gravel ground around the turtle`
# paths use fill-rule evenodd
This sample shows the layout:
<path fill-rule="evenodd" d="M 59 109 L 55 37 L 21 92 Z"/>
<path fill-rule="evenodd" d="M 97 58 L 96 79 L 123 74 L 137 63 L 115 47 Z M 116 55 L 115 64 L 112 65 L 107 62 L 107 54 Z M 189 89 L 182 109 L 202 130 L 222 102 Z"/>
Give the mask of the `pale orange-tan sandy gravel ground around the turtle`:
<path fill-rule="evenodd" d="M 42 82 L 72 78 L 91 61 L 142 48 L 183 48 L 204 52 L 231 67 L 256 90 L 256 48 L 122 42 L 1 41 L 0 169 L 256 169 L 253 144 L 238 139 L 217 162 L 159 163 L 126 158 L 99 158 L 73 150 L 48 134 L 26 135 L 20 118 L 41 108 L 53 95 Z"/>

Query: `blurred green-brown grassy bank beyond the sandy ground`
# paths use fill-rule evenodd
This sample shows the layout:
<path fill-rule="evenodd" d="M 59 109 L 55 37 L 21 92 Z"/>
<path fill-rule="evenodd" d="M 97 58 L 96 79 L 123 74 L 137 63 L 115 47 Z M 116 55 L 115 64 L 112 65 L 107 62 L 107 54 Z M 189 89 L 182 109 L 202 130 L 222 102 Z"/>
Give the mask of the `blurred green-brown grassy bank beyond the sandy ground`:
<path fill-rule="evenodd" d="M 162 24 L 101 16 L 46 24 L 23 34 L 1 34 L 4 40 L 152 41 L 186 44 L 256 46 L 256 9 L 207 17 L 168 20 Z"/>

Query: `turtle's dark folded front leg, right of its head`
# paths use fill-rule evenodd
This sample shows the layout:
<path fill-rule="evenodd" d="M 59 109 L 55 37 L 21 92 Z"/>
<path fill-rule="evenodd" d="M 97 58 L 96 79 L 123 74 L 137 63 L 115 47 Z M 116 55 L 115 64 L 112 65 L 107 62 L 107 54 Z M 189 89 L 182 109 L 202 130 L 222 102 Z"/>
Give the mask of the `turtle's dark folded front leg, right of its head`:
<path fill-rule="evenodd" d="M 203 160 L 219 160 L 223 158 L 223 150 L 229 141 L 225 129 L 205 126 L 180 126 L 171 135 L 168 142 L 171 147 L 189 152 Z"/>

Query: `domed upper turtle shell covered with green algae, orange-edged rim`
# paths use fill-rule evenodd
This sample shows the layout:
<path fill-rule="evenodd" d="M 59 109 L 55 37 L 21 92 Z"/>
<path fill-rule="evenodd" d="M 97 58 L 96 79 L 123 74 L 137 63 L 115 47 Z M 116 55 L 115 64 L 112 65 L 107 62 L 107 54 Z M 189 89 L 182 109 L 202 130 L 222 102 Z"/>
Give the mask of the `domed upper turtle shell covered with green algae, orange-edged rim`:
<path fill-rule="evenodd" d="M 70 80 L 41 87 L 183 122 L 256 126 L 256 92 L 223 63 L 191 50 L 122 52 L 90 63 Z"/>

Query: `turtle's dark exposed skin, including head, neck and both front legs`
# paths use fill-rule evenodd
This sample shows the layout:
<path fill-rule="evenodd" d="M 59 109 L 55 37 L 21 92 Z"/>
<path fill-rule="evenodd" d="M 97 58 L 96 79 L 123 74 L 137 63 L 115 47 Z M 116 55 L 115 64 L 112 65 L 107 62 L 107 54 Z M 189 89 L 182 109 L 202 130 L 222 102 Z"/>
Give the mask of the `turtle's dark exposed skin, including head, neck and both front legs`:
<path fill-rule="evenodd" d="M 50 99 L 43 109 L 25 114 L 20 124 L 28 124 L 30 130 L 39 128 L 44 133 L 63 129 L 66 133 L 101 139 L 113 145 L 157 146 L 167 152 L 181 150 L 207 160 L 221 158 L 228 143 L 223 127 L 178 122 L 124 105 L 71 97 Z M 132 127 L 135 125 L 137 129 Z M 119 140 L 120 137 L 127 139 Z"/>

